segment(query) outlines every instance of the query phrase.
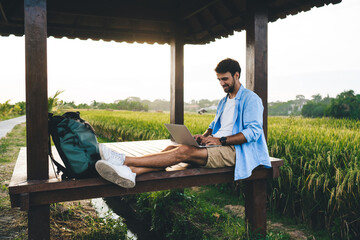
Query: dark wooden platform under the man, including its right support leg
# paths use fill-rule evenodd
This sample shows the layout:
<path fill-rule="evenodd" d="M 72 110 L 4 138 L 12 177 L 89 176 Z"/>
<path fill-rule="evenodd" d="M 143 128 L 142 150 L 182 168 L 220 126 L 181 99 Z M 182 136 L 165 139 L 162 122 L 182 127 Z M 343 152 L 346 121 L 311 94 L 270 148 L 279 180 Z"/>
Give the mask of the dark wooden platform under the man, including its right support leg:
<path fill-rule="evenodd" d="M 171 144 L 173 144 L 173 142 L 170 140 L 107 143 L 110 148 L 125 153 L 128 156 L 141 156 L 159 152 Z M 61 161 L 60 157 L 55 154 L 57 153 L 55 148 L 53 153 L 54 157 Z M 245 208 L 249 223 L 255 228 L 264 228 L 265 231 L 266 181 L 267 179 L 279 176 L 279 167 L 283 165 L 283 160 L 271 158 L 271 164 L 272 168 L 260 166 L 253 171 L 251 177 L 243 180 L 249 183 L 247 184 L 245 193 Z M 168 168 L 167 171 L 140 175 L 136 178 L 136 186 L 134 188 L 125 189 L 101 177 L 62 181 L 55 176 L 52 165 L 49 162 L 48 180 L 28 181 L 26 176 L 26 148 L 21 148 L 9 185 L 11 206 L 20 207 L 21 210 L 28 211 L 29 208 L 34 206 L 42 206 L 56 202 L 130 195 L 234 181 L 233 167 L 174 170 L 176 170 L 176 167 Z M 259 209 L 261 209 L 260 212 Z M 265 216 L 265 223 L 264 216 L 261 216 L 262 214 Z M 262 223 L 256 223 L 258 221 Z"/>

